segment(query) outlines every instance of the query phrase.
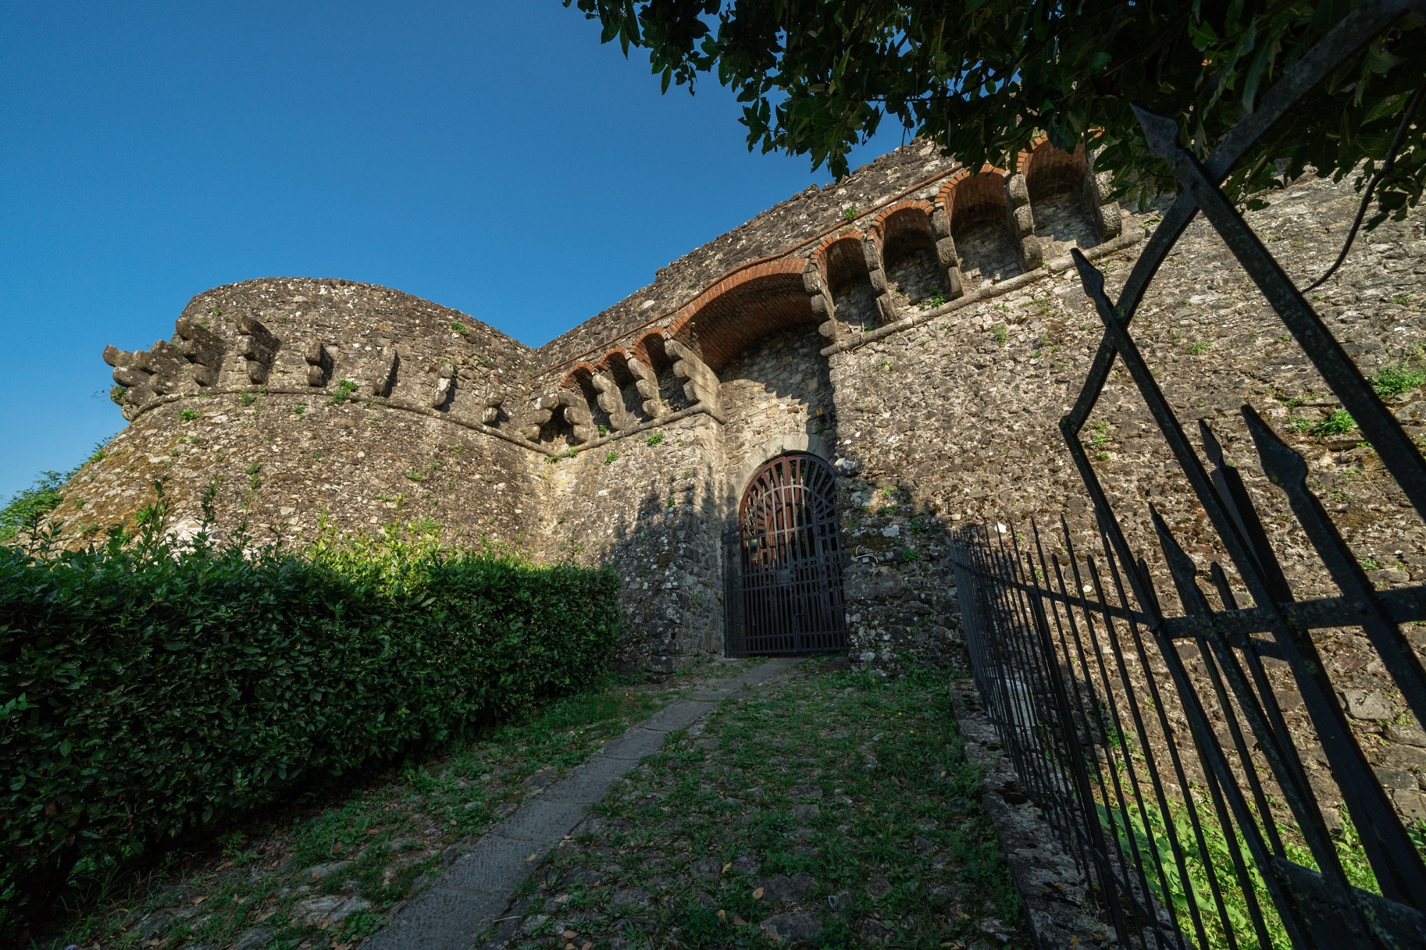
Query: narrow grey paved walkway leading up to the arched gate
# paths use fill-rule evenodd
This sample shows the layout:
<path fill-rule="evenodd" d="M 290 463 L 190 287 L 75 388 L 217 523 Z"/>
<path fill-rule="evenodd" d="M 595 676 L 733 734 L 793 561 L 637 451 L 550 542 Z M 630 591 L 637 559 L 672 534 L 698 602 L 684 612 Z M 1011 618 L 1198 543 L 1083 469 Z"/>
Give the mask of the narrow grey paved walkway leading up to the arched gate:
<path fill-rule="evenodd" d="M 800 658 L 774 659 L 663 708 L 606 743 L 562 782 L 478 839 L 446 872 L 406 904 L 362 950 L 471 950 L 511 906 L 513 892 L 626 772 L 687 729 L 717 703 L 790 669 Z"/>

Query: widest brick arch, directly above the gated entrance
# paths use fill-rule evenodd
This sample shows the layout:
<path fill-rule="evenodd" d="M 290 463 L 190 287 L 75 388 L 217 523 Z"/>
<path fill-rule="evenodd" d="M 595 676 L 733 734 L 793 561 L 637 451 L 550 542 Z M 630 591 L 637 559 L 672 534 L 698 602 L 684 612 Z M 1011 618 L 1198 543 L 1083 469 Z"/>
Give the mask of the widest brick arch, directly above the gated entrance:
<path fill-rule="evenodd" d="M 807 261 L 769 261 L 719 281 L 679 311 L 666 331 L 714 371 L 767 334 L 816 325 L 803 284 Z"/>

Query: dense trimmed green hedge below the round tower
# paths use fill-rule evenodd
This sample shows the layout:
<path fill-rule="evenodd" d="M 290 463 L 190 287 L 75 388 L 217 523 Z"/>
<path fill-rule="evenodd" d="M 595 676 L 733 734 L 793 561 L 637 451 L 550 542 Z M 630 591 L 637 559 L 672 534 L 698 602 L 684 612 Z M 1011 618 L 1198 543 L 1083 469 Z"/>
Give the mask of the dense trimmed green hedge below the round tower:
<path fill-rule="evenodd" d="M 0 548 L 0 917 L 324 776 L 589 683 L 609 571 L 392 536 Z"/>

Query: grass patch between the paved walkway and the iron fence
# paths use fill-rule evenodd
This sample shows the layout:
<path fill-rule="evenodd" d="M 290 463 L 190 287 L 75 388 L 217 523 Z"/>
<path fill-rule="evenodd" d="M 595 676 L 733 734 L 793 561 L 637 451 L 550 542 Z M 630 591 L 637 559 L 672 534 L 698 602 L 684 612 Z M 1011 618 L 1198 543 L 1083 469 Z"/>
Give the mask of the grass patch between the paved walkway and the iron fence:
<path fill-rule="evenodd" d="M 526 886 L 525 931 L 774 947 L 759 924 L 800 911 L 829 949 L 1031 946 L 944 673 L 836 666 L 670 735 Z"/>

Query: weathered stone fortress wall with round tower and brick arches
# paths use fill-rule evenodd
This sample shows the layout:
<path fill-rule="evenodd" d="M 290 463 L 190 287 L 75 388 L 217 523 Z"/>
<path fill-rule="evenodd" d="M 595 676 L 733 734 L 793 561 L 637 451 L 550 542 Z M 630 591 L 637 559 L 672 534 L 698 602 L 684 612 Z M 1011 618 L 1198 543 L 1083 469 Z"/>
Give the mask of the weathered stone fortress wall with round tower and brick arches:
<path fill-rule="evenodd" d="M 1358 195 L 1309 178 L 1266 198 L 1249 221 L 1306 282 Z M 1079 551 L 1097 543 L 1057 428 L 1101 338 L 1067 254 L 1085 250 L 1112 294 L 1155 223 L 1108 201 L 1082 153 L 1042 143 L 973 174 L 915 141 L 660 268 L 538 349 L 371 285 L 217 288 L 173 341 L 107 351 L 131 424 L 56 514 L 80 539 L 131 521 L 167 475 L 174 518 L 191 523 L 221 476 L 220 528 L 247 512 L 260 538 L 311 532 L 324 514 L 345 531 L 429 519 L 449 541 L 607 563 L 625 579 L 629 662 L 667 672 L 723 649 L 724 542 L 753 471 L 811 452 L 838 472 L 854 659 L 945 658 L 958 646 L 948 531 L 1065 516 Z M 1423 282 L 1413 213 L 1360 240 L 1313 302 L 1370 375 L 1426 342 Z M 1373 579 L 1426 579 L 1426 528 L 1358 434 L 1305 431 L 1336 404 L 1202 221 L 1151 285 L 1135 337 L 1181 418 L 1209 419 L 1238 462 L 1299 596 L 1330 583 L 1256 466 L 1242 402 L 1299 445 Z M 344 379 L 356 385 L 345 399 Z M 1419 389 L 1392 404 L 1426 435 Z M 1226 566 L 1122 372 L 1085 441 L 1165 602 L 1147 502 L 1205 576 L 1212 559 Z M 1426 629 L 1409 629 L 1426 650 Z M 1426 733 L 1362 638 L 1318 638 L 1399 807 L 1426 814 Z M 1301 709 L 1286 670 L 1272 675 Z"/>

